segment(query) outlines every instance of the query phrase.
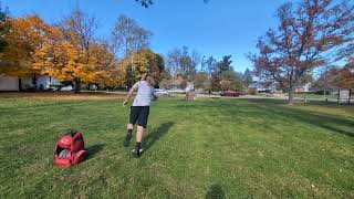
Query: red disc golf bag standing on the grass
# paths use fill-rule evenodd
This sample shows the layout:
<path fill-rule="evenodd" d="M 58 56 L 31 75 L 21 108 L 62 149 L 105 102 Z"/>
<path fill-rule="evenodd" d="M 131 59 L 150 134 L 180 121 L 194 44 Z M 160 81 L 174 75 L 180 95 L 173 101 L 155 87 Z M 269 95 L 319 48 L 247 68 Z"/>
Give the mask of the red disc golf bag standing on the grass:
<path fill-rule="evenodd" d="M 70 167 L 85 160 L 85 144 L 81 133 L 71 130 L 58 140 L 54 151 L 56 166 Z"/>

